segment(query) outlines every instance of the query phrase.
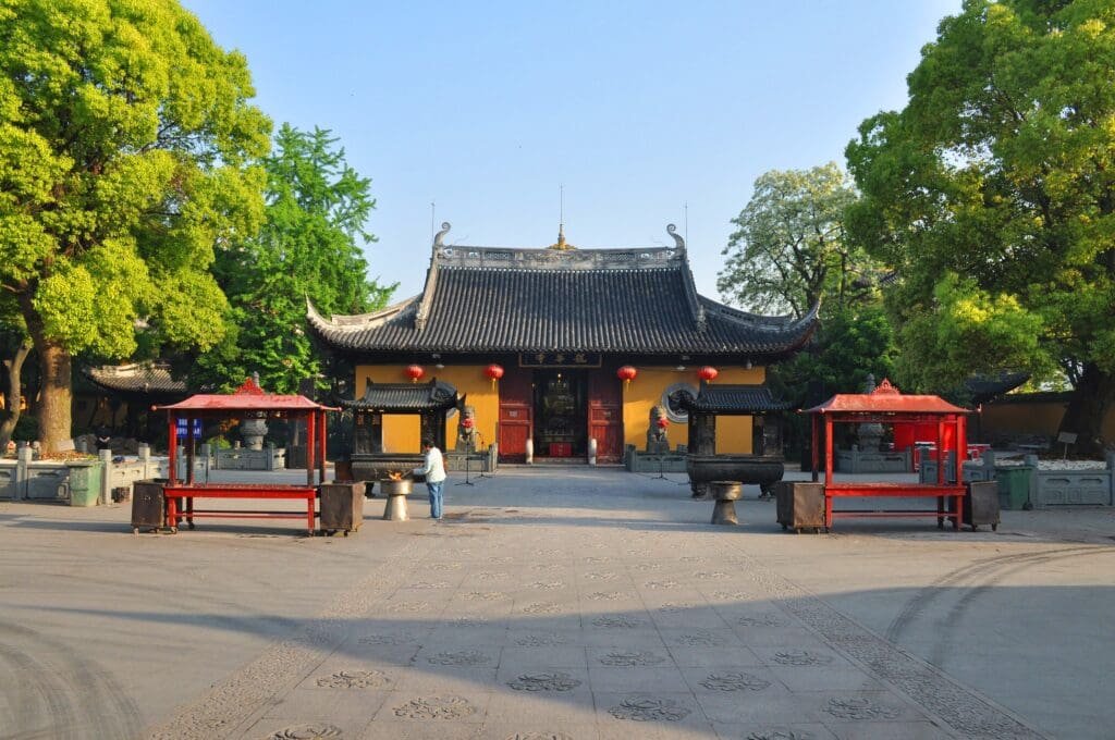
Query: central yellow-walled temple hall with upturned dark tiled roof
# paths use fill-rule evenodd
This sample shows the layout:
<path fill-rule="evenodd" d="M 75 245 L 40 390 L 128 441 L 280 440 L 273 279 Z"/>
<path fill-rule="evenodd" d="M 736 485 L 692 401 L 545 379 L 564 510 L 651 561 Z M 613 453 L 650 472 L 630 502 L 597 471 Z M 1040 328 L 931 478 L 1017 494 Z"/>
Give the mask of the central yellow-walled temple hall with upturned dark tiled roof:
<path fill-rule="evenodd" d="M 460 246 L 435 236 L 426 284 L 375 313 L 309 323 L 329 351 L 356 368 L 353 395 L 369 381 L 448 383 L 475 411 L 482 446 L 502 461 L 619 461 L 642 448 L 653 407 L 666 411 L 671 448 L 688 442 L 686 417 L 666 397 L 701 380 L 759 386 L 766 366 L 808 342 L 816 310 L 801 319 L 738 311 L 697 293 L 682 238 L 673 246 L 580 250 Z M 450 411 L 445 439 L 457 439 Z M 749 417 L 725 419 L 717 452 L 752 451 Z M 389 452 L 419 448 L 415 416 L 386 415 Z"/>

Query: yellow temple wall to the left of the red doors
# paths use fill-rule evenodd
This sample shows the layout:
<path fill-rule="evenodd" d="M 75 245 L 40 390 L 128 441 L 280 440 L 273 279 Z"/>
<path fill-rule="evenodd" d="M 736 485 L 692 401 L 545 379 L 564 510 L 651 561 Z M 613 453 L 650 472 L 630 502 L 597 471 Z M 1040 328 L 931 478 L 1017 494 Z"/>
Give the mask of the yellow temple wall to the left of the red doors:
<path fill-rule="evenodd" d="M 368 379 L 377 383 L 397 383 L 407 380 L 401 364 L 374 366 L 361 364 L 356 369 L 356 396 L 363 395 Z M 500 418 L 498 384 L 492 387 L 492 380 L 484 374 L 484 364 L 446 366 L 442 369 L 426 368 L 426 376 L 418 382 L 437 378 L 457 389 L 465 398 L 465 403 L 476 409 L 476 430 L 482 437 L 484 447 L 495 441 L 495 423 Z M 387 452 L 421 451 L 421 422 L 416 413 L 384 415 L 384 450 Z M 457 441 L 457 417 L 445 421 L 445 444 L 453 449 Z"/>

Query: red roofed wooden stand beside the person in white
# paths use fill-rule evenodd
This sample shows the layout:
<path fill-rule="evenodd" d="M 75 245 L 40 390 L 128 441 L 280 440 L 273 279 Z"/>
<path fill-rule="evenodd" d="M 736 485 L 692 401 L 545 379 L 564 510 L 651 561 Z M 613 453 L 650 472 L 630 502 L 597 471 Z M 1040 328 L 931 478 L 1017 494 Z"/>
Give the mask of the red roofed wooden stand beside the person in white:
<path fill-rule="evenodd" d="M 326 411 L 337 409 L 320 406 L 304 396 L 278 396 L 265 393 L 251 378 L 231 395 L 198 393 L 171 406 L 156 407 L 166 411 L 169 481 L 164 487 L 166 497 L 166 526 L 177 532 L 182 519 L 193 529 L 194 518 L 236 519 L 303 519 L 307 532 L 314 534 L 318 484 L 326 480 Z M 185 429 L 194 428 L 195 419 L 293 419 L 306 421 L 307 455 L 306 484 L 280 483 L 198 483 L 194 480 L 194 439 L 186 439 L 186 477 L 177 477 L 177 429 L 178 419 L 185 420 Z M 314 469 L 317 467 L 317 470 Z M 317 476 L 320 476 L 316 480 Z M 258 499 L 268 502 L 302 502 L 297 509 L 226 509 L 197 508 L 194 500 L 211 499 Z"/>

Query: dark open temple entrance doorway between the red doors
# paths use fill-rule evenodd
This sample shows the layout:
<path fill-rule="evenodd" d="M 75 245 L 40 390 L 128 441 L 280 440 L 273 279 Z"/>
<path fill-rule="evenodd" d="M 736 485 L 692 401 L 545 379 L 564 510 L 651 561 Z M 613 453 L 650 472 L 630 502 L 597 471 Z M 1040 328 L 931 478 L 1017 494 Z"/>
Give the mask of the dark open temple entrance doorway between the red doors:
<path fill-rule="evenodd" d="M 584 459 L 588 386 L 584 370 L 534 371 L 535 457 Z"/>

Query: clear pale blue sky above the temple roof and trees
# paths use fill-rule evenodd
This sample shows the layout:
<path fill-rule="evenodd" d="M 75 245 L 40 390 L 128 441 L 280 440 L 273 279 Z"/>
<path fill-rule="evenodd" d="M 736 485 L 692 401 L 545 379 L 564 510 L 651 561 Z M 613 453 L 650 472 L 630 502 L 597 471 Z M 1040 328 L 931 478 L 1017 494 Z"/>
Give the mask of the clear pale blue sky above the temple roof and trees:
<path fill-rule="evenodd" d="M 278 126 L 328 128 L 377 198 L 370 274 L 421 290 L 446 242 L 581 247 L 687 234 L 698 290 L 769 169 L 843 152 L 901 108 L 960 0 L 185 0 L 249 60 Z"/>

